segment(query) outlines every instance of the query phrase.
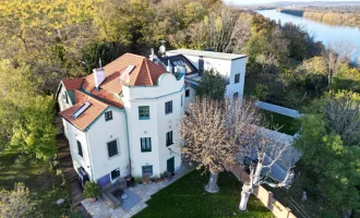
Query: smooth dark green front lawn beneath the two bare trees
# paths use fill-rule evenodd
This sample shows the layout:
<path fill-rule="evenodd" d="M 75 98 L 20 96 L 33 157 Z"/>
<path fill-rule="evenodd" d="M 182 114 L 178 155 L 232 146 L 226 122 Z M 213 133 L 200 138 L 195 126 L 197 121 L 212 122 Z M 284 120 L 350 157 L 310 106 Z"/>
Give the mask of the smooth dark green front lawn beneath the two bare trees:
<path fill-rule="evenodd" d="M 153 195 L 146 203 L 148 207 L 135 218 L 273 217 L 255 196 L 249 201 L 249 211 L 241 213 L 238 209 L 241 183 L 232 173 L 219 174 L 219 192 L 216 194 L 204 191 L 208 174 L 201 173 L 194 170 Z"/>

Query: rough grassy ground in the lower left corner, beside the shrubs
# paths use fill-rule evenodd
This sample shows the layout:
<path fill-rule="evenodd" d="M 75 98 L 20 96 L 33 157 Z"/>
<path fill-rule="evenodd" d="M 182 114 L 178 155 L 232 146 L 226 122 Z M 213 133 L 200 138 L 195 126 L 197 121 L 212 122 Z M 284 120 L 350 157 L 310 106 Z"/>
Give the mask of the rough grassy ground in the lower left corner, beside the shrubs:
<path fill-rule="evenodd" d="M 12 190 L 15 183 L 24 183 L 35 203 L 29 217 L 62 217 L 69 215 L 69 190 L 62 186 L 61 177 L 49 172 L 49 165 L 21 157 L 14 153 L 0 153 L 0 189 Z M 58 198 L 67 199 L 62 209 L 56 204 Z"/>

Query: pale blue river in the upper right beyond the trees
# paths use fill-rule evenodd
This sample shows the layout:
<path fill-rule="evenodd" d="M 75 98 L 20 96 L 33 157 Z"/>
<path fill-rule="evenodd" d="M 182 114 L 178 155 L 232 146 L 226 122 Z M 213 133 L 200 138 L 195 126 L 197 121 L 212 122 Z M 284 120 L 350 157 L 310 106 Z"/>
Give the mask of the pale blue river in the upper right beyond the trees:
<path fill-rule="evenodd" d="M 350 41 L 356 46 L 355 60 L 360 63 L 360 29 L 353 26 L 332 26 L 309 19 L 285 14 L 274 10 L 259 10 L 257 13 L 281 23 L 293 23 L 302 25 L 309 33 L 314 34 L 316 40 L 323 41 L 325 46 L 337 41 Z"/>

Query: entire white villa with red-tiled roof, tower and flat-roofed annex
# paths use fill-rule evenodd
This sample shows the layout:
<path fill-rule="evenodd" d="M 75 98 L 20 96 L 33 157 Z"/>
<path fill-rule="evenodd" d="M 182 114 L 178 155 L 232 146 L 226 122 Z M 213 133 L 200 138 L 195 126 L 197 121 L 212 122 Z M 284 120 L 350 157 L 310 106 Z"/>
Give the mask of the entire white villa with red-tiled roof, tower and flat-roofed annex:
<path fill-rule="evenodd" d="M 125 53 L 85 77 L 62 80 L 58 102 L 74 169 L 100 185 L 181 167 L 178 122 L 205 70 L 242 97 L 247 56 L 170 50 L 149 59 Z"/>

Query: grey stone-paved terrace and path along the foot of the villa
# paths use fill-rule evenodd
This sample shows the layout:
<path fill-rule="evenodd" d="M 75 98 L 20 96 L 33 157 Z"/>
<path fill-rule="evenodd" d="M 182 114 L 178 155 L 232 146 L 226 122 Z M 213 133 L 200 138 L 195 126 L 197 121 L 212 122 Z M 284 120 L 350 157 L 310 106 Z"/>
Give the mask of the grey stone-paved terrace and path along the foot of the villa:
<path fill-rule="evenodd" d="M 81 202 L 81 204 L 94 218 L 130 218 L 147 207 L 146 202 L 152 198 L 153 194 L 173 183 L 184 174 L 189 173 L 192 169 L 192 167 L 182 166 L 181 169 L 179 169 L 171 178 L 171 180 L 165 180 L 164 182 L 158 183 L 152 182 L 151 184 L 136 184 L 134 187 L 127 189 L 127 191 L 133 192 L 141 198 L 139 203 L 136 201 L 137 204 L 133 205 L 132 208 L 129 209 L 129 207 L 127 206 L 127 210 L 122 206 L 112 209 L 111 207 L 106 205 L 103 198 L 98 198 L 95 203 L 91 203 L 88 199 L 84 199 Z"/>

